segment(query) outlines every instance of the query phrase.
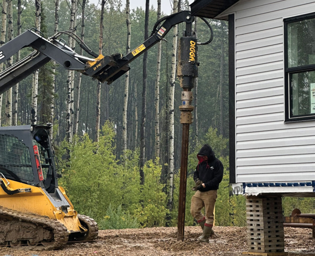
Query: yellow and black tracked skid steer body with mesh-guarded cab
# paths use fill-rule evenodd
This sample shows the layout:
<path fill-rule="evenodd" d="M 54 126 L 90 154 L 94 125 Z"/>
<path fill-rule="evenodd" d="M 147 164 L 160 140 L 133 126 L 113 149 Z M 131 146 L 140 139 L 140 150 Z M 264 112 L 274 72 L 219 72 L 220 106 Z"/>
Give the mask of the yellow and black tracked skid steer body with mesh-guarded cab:
<path fill-rule="evenodd" d="M 0 127 L 0 223 L 7 224 L 0 245 L 60 248 L 98 234 L 96 222 L 77 214 L 58 186 L 61 175 L 49 130 L 49 125 Z"/>

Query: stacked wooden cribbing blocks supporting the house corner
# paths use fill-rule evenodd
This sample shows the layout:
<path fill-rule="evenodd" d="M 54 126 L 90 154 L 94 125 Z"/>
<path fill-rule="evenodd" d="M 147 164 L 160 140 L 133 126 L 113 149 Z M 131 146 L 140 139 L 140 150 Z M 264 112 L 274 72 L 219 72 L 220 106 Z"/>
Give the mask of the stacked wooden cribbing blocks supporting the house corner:
<path fill-rule="evenodd" d="M 246 199 L 247 241 L 249 254 L 286 255 L 280 196 Z"/>

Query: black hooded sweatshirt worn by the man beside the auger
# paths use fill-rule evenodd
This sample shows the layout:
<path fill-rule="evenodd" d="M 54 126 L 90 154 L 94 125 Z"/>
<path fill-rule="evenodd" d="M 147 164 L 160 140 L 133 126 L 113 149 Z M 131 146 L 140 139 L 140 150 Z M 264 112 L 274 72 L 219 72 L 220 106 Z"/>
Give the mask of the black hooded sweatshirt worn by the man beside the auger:
<path fill-rule="evenodd" d="M 208 157 L 208 161 L 203 160 L 203 156 Z M 198 178 L 203 181 L 206 187 L 199 189 L 200 191 L 209 191 L 209 190 L 217 190 L 219 188 L 219 183 L 223 178 L 223 164 L 222 162 L 215 158 L 215 153 L 212 148 L 205 144 L 200 149 L 197 158 L 199 163 L 194 172 L 194 181 Z"/>

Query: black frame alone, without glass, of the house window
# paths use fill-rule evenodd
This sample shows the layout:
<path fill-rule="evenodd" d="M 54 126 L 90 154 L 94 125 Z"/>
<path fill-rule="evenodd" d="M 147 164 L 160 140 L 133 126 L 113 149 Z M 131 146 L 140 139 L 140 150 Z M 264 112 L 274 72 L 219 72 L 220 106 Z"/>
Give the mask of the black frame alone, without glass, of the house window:
<path fill-rule="evenodd" d="M 306 66 L 298 66 L 288 68 L 288 24 L 315 18 L 315 13 L 303 14 L 295 17 L 290 17 L 283 19 L 284 21 L 284 123 L 298 122 L 298 121 L 307 121 L 314 120 L 315 115 L 307 114 L 301 116 L 294 116 L 292 109 L 290 109 L 290 104 L 292 105 L 292 89 L 289 83 L 289 76 L 291 77 L 293 73 L 300 73 L 305 71 L 315 70 L 315 64 L 310 64 Z M 292 116 L 292 117 L 291 117 Z"/>

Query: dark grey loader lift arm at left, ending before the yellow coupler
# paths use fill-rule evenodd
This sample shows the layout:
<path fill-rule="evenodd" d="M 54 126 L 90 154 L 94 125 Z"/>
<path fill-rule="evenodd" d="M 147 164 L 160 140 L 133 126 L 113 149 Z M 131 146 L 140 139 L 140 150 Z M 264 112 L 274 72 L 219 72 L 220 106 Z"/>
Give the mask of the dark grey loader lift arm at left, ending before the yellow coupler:
<path fill-rule="evenodd" d="M 83 72 L 89 68 L 85 64 L 86 60 L 94 61 L 84 56 L 81 56 L 83 59 L 77 58 L 77 54 L 60 41 L 49 41 L 31 30 L 26 30 L 0 47 L 0 63 L 24 47 L 32 47 L 35 51 L 0 73 L 0 94 L 45 65 L 50 59 L 55 60 L 65 69 Z"/>

